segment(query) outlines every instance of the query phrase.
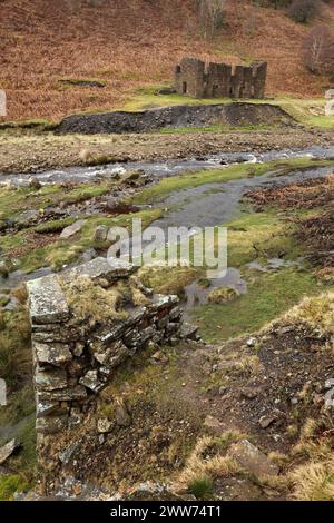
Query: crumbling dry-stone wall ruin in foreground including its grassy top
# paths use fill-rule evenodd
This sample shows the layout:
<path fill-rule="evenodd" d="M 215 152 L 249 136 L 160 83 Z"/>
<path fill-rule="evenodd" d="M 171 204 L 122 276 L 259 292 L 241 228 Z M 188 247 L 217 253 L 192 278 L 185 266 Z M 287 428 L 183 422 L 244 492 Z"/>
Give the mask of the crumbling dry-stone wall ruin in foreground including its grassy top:
<path fill-rule="evenodd" d="M 134 273 L 96 258 L 28 283 L 41 477 L 61 466 L 52 441 L 85 424 L 124 362 L 149 344 L 196 336 L 177 296 L 154 295 Z"/>

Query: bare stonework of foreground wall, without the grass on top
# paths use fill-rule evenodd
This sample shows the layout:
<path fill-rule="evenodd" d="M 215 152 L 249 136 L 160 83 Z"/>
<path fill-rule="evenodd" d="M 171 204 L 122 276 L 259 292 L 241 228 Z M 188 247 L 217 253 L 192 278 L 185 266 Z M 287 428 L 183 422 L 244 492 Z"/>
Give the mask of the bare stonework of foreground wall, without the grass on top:
<path fill-rule="evenodd" d="M 82 277 L 105 289 L 131 278 L 147 303 L 129 307 L 126 319 L 92 328 L 78 320 L 65 290 L 67 283 Z M 28 293 L 39 436 L 81 424 L 126 359 L 150 343 L 173 343 L 183 336 L 177 296 L 154 295 L 129 264 L 116 259 L 110 264 L 96 258 L 60 276 L 30 282 Z"/>

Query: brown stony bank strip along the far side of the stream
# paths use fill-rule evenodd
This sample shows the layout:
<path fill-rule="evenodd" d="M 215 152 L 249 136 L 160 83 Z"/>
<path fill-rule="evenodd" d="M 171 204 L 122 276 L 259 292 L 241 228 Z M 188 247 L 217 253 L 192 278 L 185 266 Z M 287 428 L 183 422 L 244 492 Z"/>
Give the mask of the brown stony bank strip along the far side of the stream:
<path fill-rule="evenodd" d="M 53 136 L 0 134 L 0 172 L 36 172 L 53 167 L 183 158 L 219 151 L 265 151 L 333 146 L 334 131 L 272 129 L 253 132 Z"/>

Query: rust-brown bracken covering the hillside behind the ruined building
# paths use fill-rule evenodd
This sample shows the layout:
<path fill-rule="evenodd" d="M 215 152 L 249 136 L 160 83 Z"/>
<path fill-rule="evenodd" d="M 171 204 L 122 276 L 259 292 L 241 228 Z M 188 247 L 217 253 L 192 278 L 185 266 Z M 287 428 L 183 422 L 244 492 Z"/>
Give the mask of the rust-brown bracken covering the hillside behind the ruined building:
<path fill-rule="evenodd" d="M 170 82 L 184 55 L 247 63 L 269 61 L 268 93 L 321 96 L 324 79 L 301 58 L 307 28 L 283 12 L 227 1 L 227 24 L 214 42 L 200 39 L 190 0 L 105 0 L 69 9 L 69 0 L 2 0 L 0 87 L 8 119 L 59 118 L 72 111 L 120 107 L 138 86 Z M 333 7 L 324 7 L 325 23 Z M 105 88 L 62 78 L 97 79 Z"/>

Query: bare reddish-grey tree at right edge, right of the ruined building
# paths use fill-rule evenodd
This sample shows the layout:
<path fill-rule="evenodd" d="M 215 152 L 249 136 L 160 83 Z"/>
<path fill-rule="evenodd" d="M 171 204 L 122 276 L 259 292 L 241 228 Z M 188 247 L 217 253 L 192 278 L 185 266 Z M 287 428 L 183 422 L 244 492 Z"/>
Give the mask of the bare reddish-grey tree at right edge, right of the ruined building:
<path fill-rule="evenodd" d="M 305 38 L 304 63 L 315 73 L 334 73 L 334 32 L 327 26 L 315 27 Z"/>

